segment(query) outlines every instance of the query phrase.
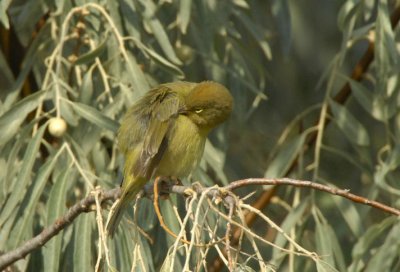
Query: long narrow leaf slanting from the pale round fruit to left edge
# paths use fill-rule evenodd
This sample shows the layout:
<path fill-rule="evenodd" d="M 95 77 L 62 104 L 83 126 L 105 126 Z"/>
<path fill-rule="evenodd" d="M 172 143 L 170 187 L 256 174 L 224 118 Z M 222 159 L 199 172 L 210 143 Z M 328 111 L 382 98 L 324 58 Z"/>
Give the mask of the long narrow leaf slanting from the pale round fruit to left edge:
<path fill-rule="evenodd" d="M 15 212 L 15 208 L 22 201 L 23 194 L 26 192 L 27 187 L 31 181 L 32 168 L 36 161 L 37 152 L 43 138 L 43 134 L 47 126 L 41 126 L 36 132 L 36 135 L 29 142 L 26 149 L 23 163 L 18 174 L 18 190 L 14 190 L 8 198 L 5 206 L 0 214 L 0 226 L 8 219 L 8 217 Z"/>

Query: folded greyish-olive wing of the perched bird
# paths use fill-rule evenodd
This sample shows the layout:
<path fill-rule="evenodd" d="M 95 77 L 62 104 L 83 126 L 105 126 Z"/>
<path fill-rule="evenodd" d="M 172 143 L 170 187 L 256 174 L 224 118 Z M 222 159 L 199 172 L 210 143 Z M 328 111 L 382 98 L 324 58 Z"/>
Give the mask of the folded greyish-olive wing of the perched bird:
<path fill-rule="evenodd" d="M 143 146 L 132 169 L 134 175 L 150 178 L 168 145 L 168 131 L 179 112 L 180 98 L 170 88 L 161 86 L 151 96 L 151 116 L 143 138 Z"/>

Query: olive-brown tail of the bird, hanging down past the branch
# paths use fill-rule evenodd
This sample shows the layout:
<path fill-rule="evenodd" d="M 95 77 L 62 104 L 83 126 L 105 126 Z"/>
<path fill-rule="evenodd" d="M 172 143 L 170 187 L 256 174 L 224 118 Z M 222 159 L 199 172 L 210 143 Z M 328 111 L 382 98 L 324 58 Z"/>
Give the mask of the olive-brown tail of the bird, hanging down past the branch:
<path fill-rule="evenodd" d="M 145 183 L 146 179 L 137 178 L 128 183 L 128 186 L 123 189 L 122 195 L 119 198 L 118 203 L 114 208 L 114 212 L 106 226 L 107 234 L 111 238 L 114 236 L 114 233 L 118 228 L 125 209 L 128 207 L 130 202 L 135 199 L 136 195 L 140 192 Z"/>

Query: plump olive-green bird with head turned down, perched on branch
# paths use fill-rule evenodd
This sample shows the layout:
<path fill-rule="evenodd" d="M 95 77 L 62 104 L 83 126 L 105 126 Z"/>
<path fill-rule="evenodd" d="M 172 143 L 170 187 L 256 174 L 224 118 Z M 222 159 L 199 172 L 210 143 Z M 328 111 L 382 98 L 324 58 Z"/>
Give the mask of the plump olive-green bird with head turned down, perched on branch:
<path fill-rule="evenodd" d="M 150 90 L 118 131 L 125 156 L 122 194 L 107 225 L 113 236 L 123 210 L 152 177 L 182 178 L 199 163 L 208 133 L 230 115 L 233 98 L 219 83 L 173 82 Z"/>

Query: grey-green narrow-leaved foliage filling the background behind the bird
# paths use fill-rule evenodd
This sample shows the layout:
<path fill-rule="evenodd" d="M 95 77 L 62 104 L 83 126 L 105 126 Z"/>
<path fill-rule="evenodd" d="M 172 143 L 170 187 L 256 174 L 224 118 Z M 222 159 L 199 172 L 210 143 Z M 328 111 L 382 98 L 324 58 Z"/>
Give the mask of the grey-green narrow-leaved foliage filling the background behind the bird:
<path fill-rule="evenodd" d="M 96 186 L 119 184 L 117 121 L 150 87 L 182 79 L 221 82 L 235 97 L 234 115 L 211 136 L 193 179 L 210 186 L 291 176 L 398 207 L 400 46 L 390 14 L 399 5 L 391 0 L 2 0 L 0 250 L 34 236 Z M 360 82 L 351 80 L 370 42 L 373 61 Z M 346 83 L 351 95 L 343 103 L 333 101 Z M 61 138 L 47 130 L 55 116 L 68 124 Z M 271 269 L 400 270 L 396 218 L 307 189 L 281 187 L 274 193 L 263 212 L 329 265 L 264 246 Z M 247 202 L 263 194 L 259 188 Z M 156 271 L 173 238 L 163 234 L 151 203 L 143 200 L 140 207 L 140 226 L 157 241 L 152 246 L 140 237 L 140 256 L 147 270 Z M 162 208 L 178 232 L 170 207 Z M 256 220 L 252 230 L 287 246 L 262 223 Z M 111 260 L 120 271 L 133 266 L 135 233 L 124 232 L 111 243 Z M 14 269 L 90 271 L 97 243 L 95 214 L 83 214 Z M 209 271 L 215 259 L 210 252 Z M 177 269 L 183 260 L 176 258 Z M 243 269 L 259 269 L 257 262 L 239 260 Z"/>

